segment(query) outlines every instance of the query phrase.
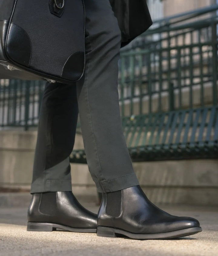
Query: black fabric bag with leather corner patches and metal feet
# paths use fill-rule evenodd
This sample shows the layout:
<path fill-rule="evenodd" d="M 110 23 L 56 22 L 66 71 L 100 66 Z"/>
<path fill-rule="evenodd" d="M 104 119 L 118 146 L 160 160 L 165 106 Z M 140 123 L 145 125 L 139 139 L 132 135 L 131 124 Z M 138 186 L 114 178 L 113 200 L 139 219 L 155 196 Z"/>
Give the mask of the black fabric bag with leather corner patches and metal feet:
<path fill-rule="evenodd" d="M 0 78 L 74 83 L 84 72 L 82 0 L 0 0 Z"/>

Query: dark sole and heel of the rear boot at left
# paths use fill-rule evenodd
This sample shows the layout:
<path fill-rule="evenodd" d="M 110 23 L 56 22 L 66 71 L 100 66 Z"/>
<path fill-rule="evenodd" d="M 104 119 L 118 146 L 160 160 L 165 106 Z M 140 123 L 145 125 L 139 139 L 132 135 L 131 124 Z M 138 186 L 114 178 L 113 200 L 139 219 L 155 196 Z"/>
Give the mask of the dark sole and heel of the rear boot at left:
<path fill-rule="evenodd" d="M 96 233 L 96 228 L 73 228 L 54 223 L 27 222 L 27 231 L 55 231 L 56 228 L 79 233 Z"/>

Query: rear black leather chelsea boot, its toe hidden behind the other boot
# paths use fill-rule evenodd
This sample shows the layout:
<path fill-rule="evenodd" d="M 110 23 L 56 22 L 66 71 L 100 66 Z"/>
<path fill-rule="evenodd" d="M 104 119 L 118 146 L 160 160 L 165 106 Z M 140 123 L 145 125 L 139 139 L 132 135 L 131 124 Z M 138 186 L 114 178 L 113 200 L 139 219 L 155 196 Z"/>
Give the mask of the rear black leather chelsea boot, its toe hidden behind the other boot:
<path fill-rule="evenodd" d="M 97 215 L 86 210 L 71 191 L 35 193 L 28 210 L 27 231 L 96 233 Z"/>

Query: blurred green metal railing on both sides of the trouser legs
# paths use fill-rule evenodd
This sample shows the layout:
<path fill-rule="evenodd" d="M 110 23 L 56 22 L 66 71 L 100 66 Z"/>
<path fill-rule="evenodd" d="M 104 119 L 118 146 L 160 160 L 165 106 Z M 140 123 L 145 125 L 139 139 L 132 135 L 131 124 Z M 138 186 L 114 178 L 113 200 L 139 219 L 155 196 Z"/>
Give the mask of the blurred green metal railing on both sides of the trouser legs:
<path fill-rule="evenodd" d="M 121 50 L 121 115 L 216 106 L 218 5 L 174 15 Z M 45 82 L 0 80 L 0 126 L 37 126 Z"/>

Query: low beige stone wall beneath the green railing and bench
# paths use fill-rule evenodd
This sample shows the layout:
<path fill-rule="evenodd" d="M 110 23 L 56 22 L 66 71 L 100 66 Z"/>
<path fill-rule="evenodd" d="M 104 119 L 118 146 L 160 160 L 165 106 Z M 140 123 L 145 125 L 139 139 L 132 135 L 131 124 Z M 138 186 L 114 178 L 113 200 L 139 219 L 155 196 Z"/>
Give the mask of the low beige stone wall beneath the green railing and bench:
<path fill-rule="evenodd" d="M 36 131 L 0 131 L 0 187 L 30 188 Z M 75 149 L 83 145 L 76 136 Z M 218 160 L 134 163 L 148 198 L 154 203 L 218 205 Z M 73 191 L 97 197 L 88 166 L 71 164 Z"/>

